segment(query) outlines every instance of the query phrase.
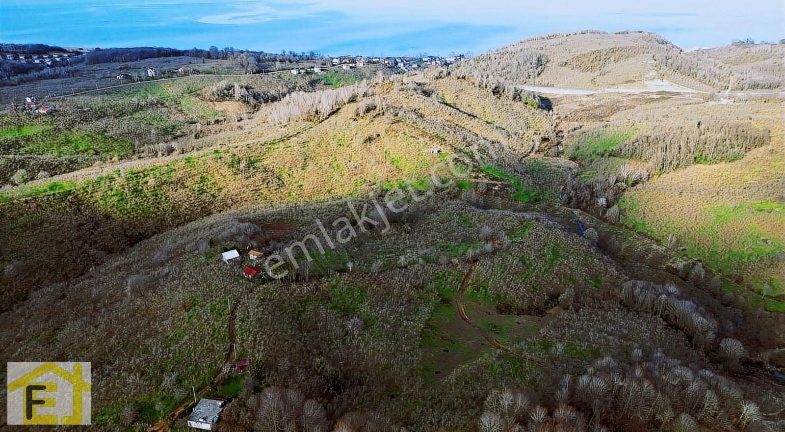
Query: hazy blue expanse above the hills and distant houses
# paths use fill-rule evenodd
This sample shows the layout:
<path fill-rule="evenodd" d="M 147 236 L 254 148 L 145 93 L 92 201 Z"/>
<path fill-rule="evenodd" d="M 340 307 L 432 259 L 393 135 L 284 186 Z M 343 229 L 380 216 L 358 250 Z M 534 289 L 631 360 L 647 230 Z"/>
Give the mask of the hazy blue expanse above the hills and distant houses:
<path fill-rule="evenodd" d="M 682 48 L 785 38 L 783 0 L 2 0 L 0 42 L 479 54 L 554 31 L 655 31 Z"/>

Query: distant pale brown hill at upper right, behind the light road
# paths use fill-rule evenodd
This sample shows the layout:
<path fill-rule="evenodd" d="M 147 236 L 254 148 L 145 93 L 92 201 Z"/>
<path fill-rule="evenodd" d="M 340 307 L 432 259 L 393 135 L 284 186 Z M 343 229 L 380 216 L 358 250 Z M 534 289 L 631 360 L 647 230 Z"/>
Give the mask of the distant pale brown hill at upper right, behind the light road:
<path fill-rule="evenodd" d="M 785 88 L 785 46 L 740 45 L 685 52 L 654 33 L 579 31 L 529 38 L 455 66 L 512 85 L 601 90 L 666 80 L 695 90 Z"/>

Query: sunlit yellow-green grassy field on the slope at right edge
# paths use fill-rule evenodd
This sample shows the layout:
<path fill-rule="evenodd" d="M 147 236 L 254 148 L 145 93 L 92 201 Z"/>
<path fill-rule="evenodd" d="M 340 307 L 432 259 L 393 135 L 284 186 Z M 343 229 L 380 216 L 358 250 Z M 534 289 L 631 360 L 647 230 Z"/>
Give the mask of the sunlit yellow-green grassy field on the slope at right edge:
<path fill-rule="evenodd" d="M 674 236 L 689 256 L 764 295 L 769 309 L 785 309 L 775 300 L 785 294 L 785 159 L 782 126 L 772 115 L 779 108 L 761 102 L 744 108 L 772 130 L 771 145 L 736 162 L 696 165 L 631 189 L 620 202 L 622 221 L 663 241 Z"/>

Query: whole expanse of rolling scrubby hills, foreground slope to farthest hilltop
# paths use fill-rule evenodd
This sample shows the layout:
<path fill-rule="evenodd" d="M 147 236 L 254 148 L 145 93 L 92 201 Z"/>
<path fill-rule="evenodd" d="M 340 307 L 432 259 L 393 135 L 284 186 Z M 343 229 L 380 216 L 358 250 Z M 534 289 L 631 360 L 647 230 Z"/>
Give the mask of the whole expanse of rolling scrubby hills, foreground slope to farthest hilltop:
<path fill-rule="evenodd" d="M 783 430 L 783 97 L 714 94 L 779 50 L 579 32 L 4 113 L 0 353 L 91 361 L 100 430 L 192 392 L 238 432 Z M 520 87 L 652 71 L 707 93 Z"/>

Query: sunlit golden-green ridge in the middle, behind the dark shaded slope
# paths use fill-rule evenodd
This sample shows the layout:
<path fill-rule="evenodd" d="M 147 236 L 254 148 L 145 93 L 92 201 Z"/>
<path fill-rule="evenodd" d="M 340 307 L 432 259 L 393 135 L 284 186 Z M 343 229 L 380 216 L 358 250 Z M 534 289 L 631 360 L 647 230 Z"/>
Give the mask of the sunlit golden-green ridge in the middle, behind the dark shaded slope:
<path fill-rule="evenodd" d="M 4 306 L 31 287 L 76 276 L 106 254 L 216 211 L 364 196 L 400 181 L 422 184 L 440 158 L 469 152 L 481 140 L 499 149 L 496 163 L 513 169 L 541 137 L 553 136 L 546 112 L 490 94 L 484 97 L 487 121 L 445 104 L 437 94 L 425 96 L 416 82 L 301 94 L 340 98 L 340 93 L 349 103 L 336 100 L 332 108 L 338 111 L 316 123 L 293 119 L 276 126 L 273 114 L 299 109 L 284 99 L 246 120 L 241 134 L 224 132 L 221 145 L 192 156 L 151 159 L 143 166 L 120 163 L 108 174 L 86 170 L 86 177 L 76 172 L 9 190 L 2 196 L 7 223 L 0 238 L 27 232 L 31 241 L 11 242 L 2 261 L 13 266 L 13 274 L 30 279 L 6 276 Z M 529 119 L 531 126 L 517 119 Z M 440 153 L 431 154 L 433 148 Z M 39 254 L 42 243 L 57 253 Z"/>

